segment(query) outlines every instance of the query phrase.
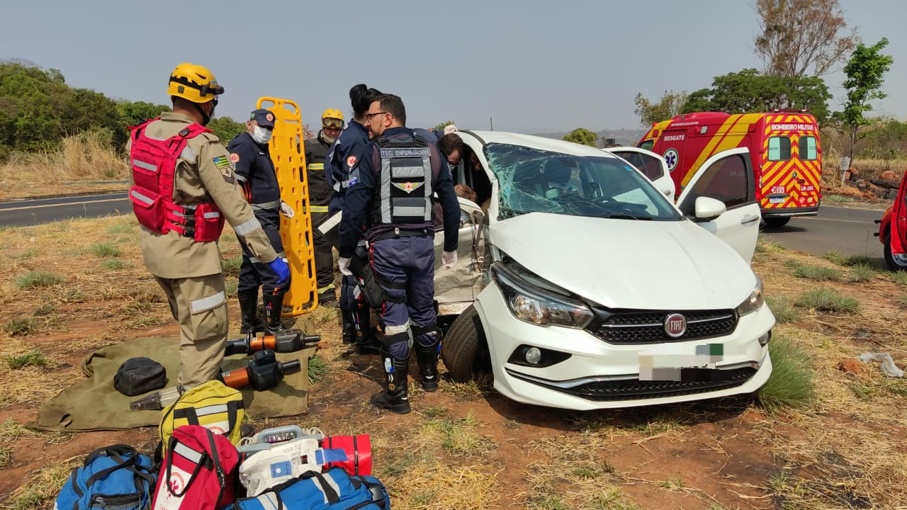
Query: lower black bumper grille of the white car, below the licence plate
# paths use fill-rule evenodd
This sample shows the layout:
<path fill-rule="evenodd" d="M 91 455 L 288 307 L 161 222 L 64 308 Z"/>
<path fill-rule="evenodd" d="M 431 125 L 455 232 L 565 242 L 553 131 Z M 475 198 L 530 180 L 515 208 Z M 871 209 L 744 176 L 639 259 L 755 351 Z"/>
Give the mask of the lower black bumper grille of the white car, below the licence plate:
<path fill-rule="evenodd" d="M 520 377 L 519 374 L 511 374 Z M 756 368 L 684 368 L 681 372 L 684 380 L 680 381 L 640 381 L 624 379 L 616 381 L 596 381 L 576 387 L 558 387 L 533 380 L 535 384 L 550 387 L 569 395 L 588 400 L 636 400 L 640 398 L 680 397 L 707 393 L 719 389 L 738 387 L 756 375 Z"/>

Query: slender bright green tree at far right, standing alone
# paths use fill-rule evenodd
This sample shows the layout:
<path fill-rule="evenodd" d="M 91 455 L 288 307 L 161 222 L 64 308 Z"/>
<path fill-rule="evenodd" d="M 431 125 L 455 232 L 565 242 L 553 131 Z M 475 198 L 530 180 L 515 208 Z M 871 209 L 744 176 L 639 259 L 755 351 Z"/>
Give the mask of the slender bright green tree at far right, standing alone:
<path fill-rule="evenodd" d="M 847 91 L 847 102 L 844 110 L 835 112 L 834 118 L 847 129 L 850 135 L 850 157 L 853 159 L 853 147 L 861 135 L 861 129 L 871 123 L 863 113 L 873 109 L 870 104 L 874 99 L 883 99 L 888 94 L 882 92 L 885 73 L 892 68 L 894 58 L 882 54 L 888 45 L 888 39 L 882 38 L 872 46 L 857 44 L 850 60 L 844 65 L 844 90 Z"/>

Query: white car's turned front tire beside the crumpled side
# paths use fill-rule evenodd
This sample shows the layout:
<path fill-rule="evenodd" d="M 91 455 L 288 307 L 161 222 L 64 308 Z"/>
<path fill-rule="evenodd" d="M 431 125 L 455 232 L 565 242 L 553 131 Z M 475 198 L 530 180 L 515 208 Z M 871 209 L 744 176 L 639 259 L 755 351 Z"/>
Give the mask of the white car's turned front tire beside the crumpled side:
<path fill-rule="evenodd" d="M 441 358 L 456 382 L 468 382 L 478 375 L 492 373 L 488 341 L 474 306 L 453 320 L 441 342 Z"/>

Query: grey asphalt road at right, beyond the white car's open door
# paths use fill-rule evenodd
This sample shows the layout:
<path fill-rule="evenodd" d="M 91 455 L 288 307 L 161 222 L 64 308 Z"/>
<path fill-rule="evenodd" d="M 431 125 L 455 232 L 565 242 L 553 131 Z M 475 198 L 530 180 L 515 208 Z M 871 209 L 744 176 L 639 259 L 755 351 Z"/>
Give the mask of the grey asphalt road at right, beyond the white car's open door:
<path fill-rule="evenodd" d="M 763 230 L 767 239 L 790 250 L 824 255 L 838 250 L 845 256 L 866 255 L 885 268 L 882 243 L 873 236 L 884 211 L 823 205 L 818 216 L 792 218 L 784 227 Z"/>

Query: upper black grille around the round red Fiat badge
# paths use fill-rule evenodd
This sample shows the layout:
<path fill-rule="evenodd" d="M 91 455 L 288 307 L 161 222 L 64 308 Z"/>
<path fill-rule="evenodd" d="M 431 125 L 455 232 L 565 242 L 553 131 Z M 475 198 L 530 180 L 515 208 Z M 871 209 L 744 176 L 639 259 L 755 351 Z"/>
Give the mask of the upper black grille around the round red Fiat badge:
<path fill-rule="evenodd" d="M 682 342 L 723 337 L 734 332 L 737 317 L 732 309 L 717 310 L 610 310 L 593 309 L 586 330 L 612 344 L 649 344 Z M 687 319 L 687 331 L 678 338 L 668 337 L 665 319 L 680 313 Z"/>

